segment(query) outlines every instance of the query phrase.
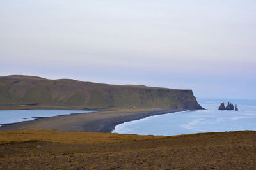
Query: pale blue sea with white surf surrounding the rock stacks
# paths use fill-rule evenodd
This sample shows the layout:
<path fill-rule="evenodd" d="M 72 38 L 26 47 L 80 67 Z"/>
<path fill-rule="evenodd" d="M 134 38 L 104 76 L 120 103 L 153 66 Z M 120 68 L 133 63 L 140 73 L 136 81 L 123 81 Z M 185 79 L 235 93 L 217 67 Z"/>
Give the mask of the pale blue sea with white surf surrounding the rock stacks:
<path fill-rule="evenodd" d="M 237 104 L 239 111 L 218 110 L 228 101 Z M 198 99 L 205 110 L 183 111 L 156 115 L 124 122 L 113 130 L 120 134 L 179 135 L 201 132 L 256 130 L 256 100 L 251 99 Z"/>

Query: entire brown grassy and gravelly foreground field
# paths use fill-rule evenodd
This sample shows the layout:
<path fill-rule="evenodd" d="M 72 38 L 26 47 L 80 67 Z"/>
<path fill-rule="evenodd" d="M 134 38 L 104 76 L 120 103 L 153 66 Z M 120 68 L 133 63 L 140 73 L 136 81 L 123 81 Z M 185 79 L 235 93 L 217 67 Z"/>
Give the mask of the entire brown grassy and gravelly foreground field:
<path fill-rule="evenodd" d="M 254 169 L 256 131 L 138 136 L 0 132 L 0 169 Z"/>

